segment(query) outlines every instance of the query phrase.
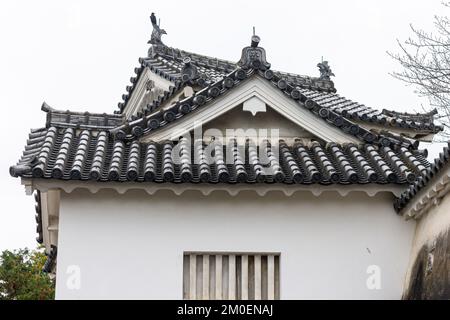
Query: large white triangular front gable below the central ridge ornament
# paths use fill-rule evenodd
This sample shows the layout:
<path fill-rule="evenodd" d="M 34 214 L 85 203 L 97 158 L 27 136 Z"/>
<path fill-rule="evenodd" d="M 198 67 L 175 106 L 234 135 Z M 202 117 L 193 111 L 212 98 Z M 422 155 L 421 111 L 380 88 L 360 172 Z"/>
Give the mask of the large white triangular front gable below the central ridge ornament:
<path fill-rule="evenodd" d="M 233 117 L 231 114 L 226 115 L 235 108 L 236 110 L 232 112 Z M 220 130 L 274 128 L 280 130 L 282 133 L 280 137 L 315 136 L 326 142 L 358 142 L 355 137 L 327 124 L 303 108 L 259 75 L 253 76 L 191 114 L 150 132 L 142 140 L 173 140 L 199 127 L 202 127 L 202 131 L 205 128 Z M 225 135 L 225 132 L 223 134 Z"/>

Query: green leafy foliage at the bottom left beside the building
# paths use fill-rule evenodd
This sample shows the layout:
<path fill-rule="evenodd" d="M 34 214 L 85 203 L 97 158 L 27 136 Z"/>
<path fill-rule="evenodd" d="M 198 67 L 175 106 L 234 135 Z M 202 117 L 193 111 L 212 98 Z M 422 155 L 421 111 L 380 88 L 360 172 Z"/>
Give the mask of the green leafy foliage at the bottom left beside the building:
<path fill-rule="evenodd" d="M 55 283 L 42 272 L 43 248 L 5 250 L 0 256 L 0 300 L 51 300 Z"/>

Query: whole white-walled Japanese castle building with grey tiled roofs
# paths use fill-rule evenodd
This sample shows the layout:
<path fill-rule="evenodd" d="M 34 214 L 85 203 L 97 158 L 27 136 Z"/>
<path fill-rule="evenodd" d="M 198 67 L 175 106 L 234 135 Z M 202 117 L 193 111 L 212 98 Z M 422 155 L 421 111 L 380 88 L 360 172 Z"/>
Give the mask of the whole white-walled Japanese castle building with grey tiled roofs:
<path fill-rule="evenodd" d="M 172 48 L 151 21 L 118 108 L 44 103 L 10 168 L 57 299 L 448 297 L 435 111 L 347 99 L 327 61 L 276 71 L 256 35 L 237 62 Z"/>

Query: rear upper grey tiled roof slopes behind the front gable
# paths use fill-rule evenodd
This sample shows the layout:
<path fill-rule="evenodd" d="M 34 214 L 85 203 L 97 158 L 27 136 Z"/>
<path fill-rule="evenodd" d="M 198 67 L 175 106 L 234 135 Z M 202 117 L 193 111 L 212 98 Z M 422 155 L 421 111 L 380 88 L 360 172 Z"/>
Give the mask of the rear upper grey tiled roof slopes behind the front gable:
<path fill-rule="evenodd" d="M 162 97 L 159 101 L 148 105 L 133 120 L 156 110 L 177 89 L 182 87 L 183 59 L 186 57 L 189 57 L 191 63 L 197 67 L 200 76 L 196 80 L 196 84 L 201 87 L 212 86 L 214 83 L 229 77 L 231 73 L 238 69 L 236 63 L 226 60 L 219 60 L 165 46 L 157 46 L 155 49 L 154 56 L 139 59 L 140 66 L 135 70 L 137 77 L 131 79 L 132 85 L 127 87 L 128 93 L 123 96 L 123 102 L 119 103 L 120 112 L 123 111 L 126 102 L 131 96 L 136 79 L 145 67 L 173 81 L 175 88 L 166 92 L 165 97 Z M 424 133 L 435 133 L 442 130 L 440 126 L 436 126 L 433 123 L 435 111 L 423 114 L 399 113 L 387 109 L 380 111 L 336 94 L 334 83 L 330 80 L 279 71 L 273 71 L 273 73 L 276 78 L 282 79 L 288 85 L 297 88 L 304 96 L 321 107 L 327 108 L 348 120 L 377 124 L 386 128 L 406 128 Z"/>

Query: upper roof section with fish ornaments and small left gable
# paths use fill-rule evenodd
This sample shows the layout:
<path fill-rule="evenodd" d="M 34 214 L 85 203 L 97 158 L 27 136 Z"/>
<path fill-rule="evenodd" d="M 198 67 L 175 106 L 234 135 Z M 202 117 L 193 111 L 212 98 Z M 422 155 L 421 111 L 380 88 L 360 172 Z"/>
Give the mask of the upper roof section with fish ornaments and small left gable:
<path fill-rule="evenodd" d="M 327 61 L 318 63 L 317 77 L 272 70 L 256 35 L 237 62 L 208 57 L 165 45 L 161 38 L 166 32 L 154 14 L 151 21 L 152 46 L 148 56 L 139 59 L 136 75 L 115 111 L 123 122 L 112 132 L 124 139 L 161 130 L 255 75 L 295 100 L 300 108 L 364 142 L 413 145 L 409 139 L 429 141 L 442 130 L 434 123 L 435 110 L 422 114 L 377 110 L 338 95 Z"/>

